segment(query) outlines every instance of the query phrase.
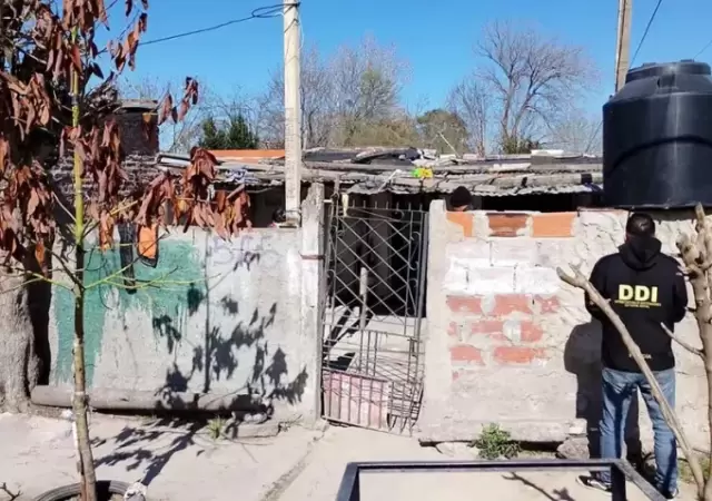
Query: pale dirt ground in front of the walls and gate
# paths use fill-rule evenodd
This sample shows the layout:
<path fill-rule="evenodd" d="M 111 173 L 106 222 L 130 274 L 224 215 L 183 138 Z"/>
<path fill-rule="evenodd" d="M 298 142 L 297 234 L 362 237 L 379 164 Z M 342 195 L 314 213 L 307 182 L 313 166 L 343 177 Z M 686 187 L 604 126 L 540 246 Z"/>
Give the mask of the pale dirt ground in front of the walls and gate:
<path fill-rule="evenodd" d="M 414 439 L 354 428 L 293 426 L 278 436 L 215 441 L 189 424 L 95 415 L 91 429 L 98 477 L 144 479 L 152 501 L 231 501 L 238 493 L 241 501 L 334 501 L 349 461 L 446 459 Z M 0 483 L 21 491 L 18 500 L 75 481 L 68 421 L 1 414 L 0 443 Z M 362 500 L 610 499 L 575 479 L 576 473 L 374 473 L 364 475 Z M 631 485 L 629 499 L 645 498 Z M 689 485 L 680 499 L 694 499 Z"/>

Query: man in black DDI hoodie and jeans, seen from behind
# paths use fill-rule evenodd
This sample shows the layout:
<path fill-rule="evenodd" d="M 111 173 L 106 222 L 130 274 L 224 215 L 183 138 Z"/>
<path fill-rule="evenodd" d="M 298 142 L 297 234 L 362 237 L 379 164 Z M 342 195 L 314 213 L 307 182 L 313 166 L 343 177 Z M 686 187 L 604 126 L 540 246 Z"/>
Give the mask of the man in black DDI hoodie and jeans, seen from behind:
<path fill-rule="evenodd" d="M 609 299 L 631 336 L 643 352 L 663 395 L 675 405 L 675 358 L 671 338 L 661 327 L 671 331 L 686 311 L 688 292 L 680 265 L 660 252 L 655 223 L 647 214 L 634 213 L 625 226 L 625 243 L 616 254 L 601 258 L 591 273 L 591 284 Z M 625 421 L 631 400 L 640 390 L 655 441 L 655 487 L 666 498 L 678 494 L 678 452 L 675 438 L 665 423 L 650 384 L 629 353 L 623 338 L 606 315 L 586 297 L 586 310 L 603 326 L 603 415 L 601 418 L 601 455 L 622 456 Z M 582 477 L 585 487 L 610 491 L 611 474 Z"/>

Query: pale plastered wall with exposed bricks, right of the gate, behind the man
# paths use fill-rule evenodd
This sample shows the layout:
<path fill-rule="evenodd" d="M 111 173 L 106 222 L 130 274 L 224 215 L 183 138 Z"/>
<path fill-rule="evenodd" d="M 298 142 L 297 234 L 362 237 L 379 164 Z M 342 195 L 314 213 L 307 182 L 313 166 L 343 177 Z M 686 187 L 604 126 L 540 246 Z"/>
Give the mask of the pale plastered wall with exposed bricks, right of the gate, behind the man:
<path fill-rule="evenodd" d="M 471 440 L 492 422 L 520 440 L 595 433 L 601 326 L 583 293 L 555 269 L 573 263 L 589 274 L 623 243 L 626 217 L 620 210 L 446 213 L 433 203 L 422 440 Z M 653 217 L 663 250 L 674 254 L 680 232 L 692 232 L 692 215 Z M 700 344 L 691 317 L 676 332 Z M 678 411 L 693 442 L 706 448 L 703 366 L 680 346 L 675 354 Z M 644 406 L 641 429 L 647 442 Z"/>

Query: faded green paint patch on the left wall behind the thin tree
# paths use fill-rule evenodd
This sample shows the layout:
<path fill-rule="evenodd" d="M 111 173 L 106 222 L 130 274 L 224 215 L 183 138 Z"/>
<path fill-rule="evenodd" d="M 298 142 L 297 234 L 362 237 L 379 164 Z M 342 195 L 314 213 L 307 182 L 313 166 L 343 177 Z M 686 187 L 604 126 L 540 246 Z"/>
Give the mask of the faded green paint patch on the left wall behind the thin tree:
<path fill-rule="evenodd" d="M 89 285 L 121 269 L 118 249 L 88 253 L 85 284 Z M 164 239 L 159 243 L 159 259 L 155 268 L 141 263 L 134 265 L 140 282 L 165 279 L 164 285 L 145 287 L 135 294 L 110 285 L 88 291 L 85 304 L 87 384 L 93 381 L 95 363 L 101 353 L 107 315 L 127 318 L 138 311 L 152 320 L 154 334 L 165 337 L 167 354 L 184 334 L 188 315 L 194 314 L 206 297 L 204 262 L 189 242 Z M 112 278 L 122 283 L 121 277 Z M 73 340 L 73 295 L 61 288 L 55 291 L 55 322 L 58 347 L 55 370 L 56 383 L 71 382 Z M 126 325 L 126 324 L 125 324 Z M 131 335 L 126 331 L 122 335 Z"/>

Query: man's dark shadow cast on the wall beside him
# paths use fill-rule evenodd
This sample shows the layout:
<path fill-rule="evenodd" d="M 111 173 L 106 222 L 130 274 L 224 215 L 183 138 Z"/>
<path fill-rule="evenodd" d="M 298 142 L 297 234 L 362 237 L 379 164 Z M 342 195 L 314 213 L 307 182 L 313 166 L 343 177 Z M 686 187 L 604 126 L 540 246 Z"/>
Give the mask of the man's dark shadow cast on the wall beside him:
<path fill-rule="evenodd" d="M 590 458 L 601 458 L 599 421 L 602 412 L 601 323 L 592 320 L 576 325 L 566 341 L 564 367 L 576 376 L 576 418 L 586 421 Z M 639 401 L 631 402 L 625 423 L 627 458 L 637 463 L 642 459 L 639 426 Z"/>

